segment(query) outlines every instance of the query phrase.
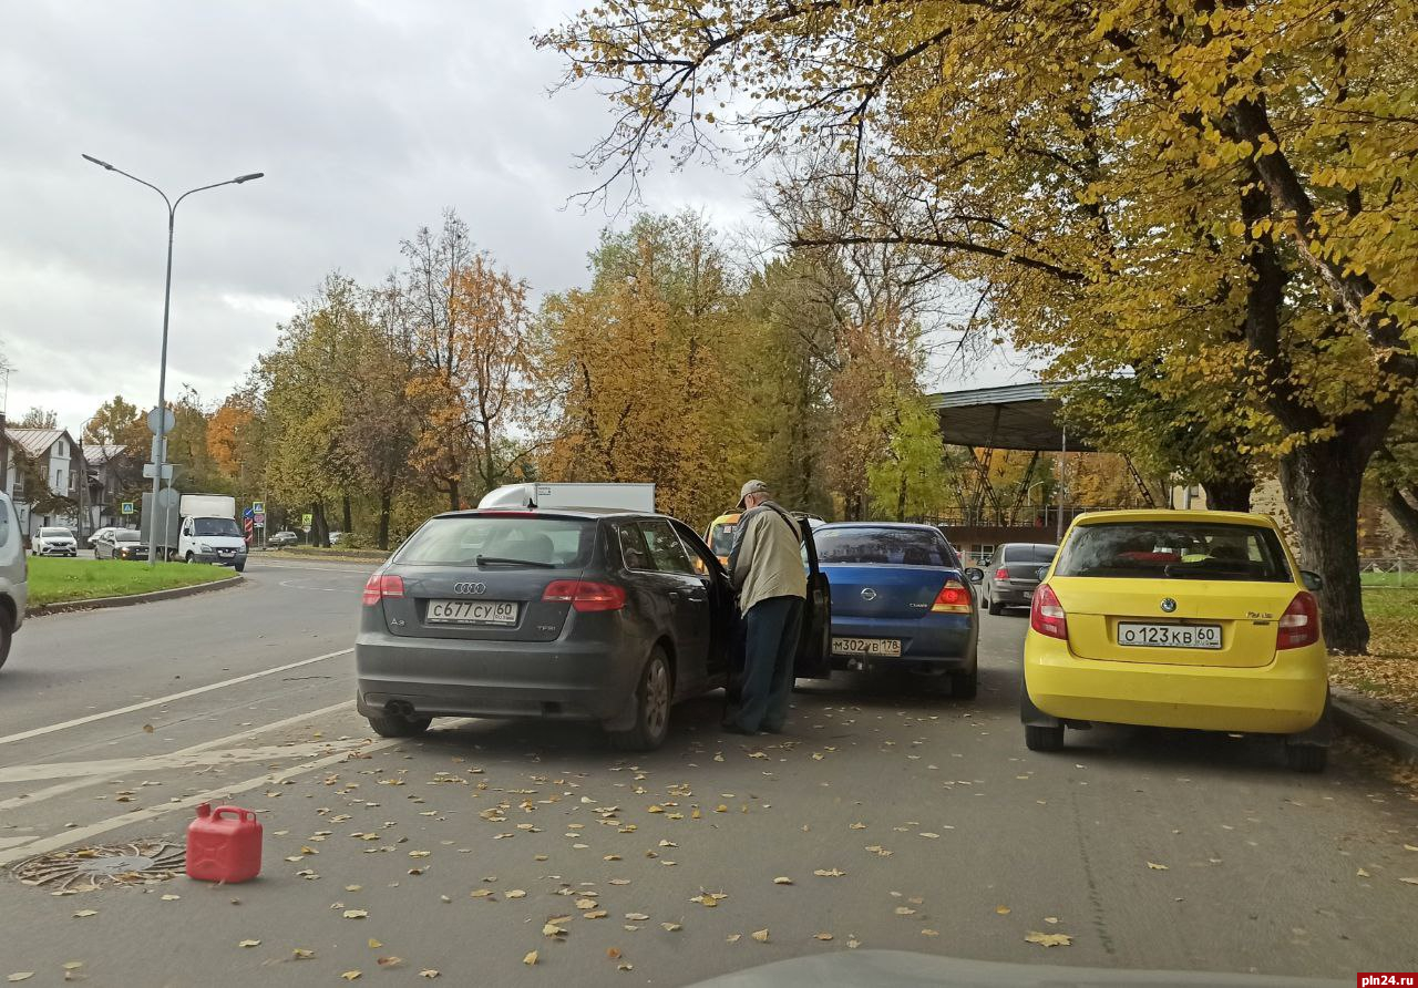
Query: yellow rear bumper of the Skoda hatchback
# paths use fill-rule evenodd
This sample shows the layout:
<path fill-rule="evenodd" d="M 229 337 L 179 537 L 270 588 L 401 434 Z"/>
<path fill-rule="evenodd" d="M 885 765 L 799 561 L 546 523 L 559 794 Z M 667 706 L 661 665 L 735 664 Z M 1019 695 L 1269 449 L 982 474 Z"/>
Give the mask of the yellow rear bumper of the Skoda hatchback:
<path fill-rule="evenodd" d="M 1029 631 L 1024 685 L 1034 706 L 1061 720 L 1295 734 L 1324 712 L 1329 659 L 1316 644 L 1248 669 L 1106 662 Z"/>

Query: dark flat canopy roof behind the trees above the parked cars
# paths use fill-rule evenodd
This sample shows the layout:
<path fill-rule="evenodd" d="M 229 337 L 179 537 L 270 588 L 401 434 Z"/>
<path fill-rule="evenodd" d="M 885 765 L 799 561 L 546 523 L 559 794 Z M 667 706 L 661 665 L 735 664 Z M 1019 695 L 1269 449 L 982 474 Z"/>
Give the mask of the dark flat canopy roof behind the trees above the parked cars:
<path fill-rule="evenodd" d="M 971 391 L 929 394 L 926 401 L 940 421 L 940 438 L 956 447 L 986 449 L 1065 448 L 1064 425 L 1058 421 L 1062 403 L 1052 397 L 1051 384 L 1010 384 Z M 1068 437 L 1069 452 L 1093 448 Z"/>

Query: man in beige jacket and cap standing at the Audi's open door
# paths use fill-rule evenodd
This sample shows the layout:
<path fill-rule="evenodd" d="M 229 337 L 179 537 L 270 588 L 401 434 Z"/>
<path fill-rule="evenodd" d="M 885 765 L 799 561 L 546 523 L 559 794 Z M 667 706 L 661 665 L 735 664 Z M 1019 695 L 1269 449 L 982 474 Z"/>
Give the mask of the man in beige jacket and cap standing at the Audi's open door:
<path fill-rule="evenodd" d="M 729 554 L 729 578 L 739 591 L 746 641 L 739 707 L 723 722 L 736 734 L 780 733 L 793 695 L 807 573 L 797 522 L 778 507 L 763 481 L 743 485 L 744 512 Z"/>

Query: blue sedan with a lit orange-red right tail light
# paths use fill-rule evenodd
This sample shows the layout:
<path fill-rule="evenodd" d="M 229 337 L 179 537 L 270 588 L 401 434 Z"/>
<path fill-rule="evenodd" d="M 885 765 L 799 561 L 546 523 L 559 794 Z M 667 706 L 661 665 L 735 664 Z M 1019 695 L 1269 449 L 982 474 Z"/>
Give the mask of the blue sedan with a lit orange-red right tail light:
<path fill-rule="evenodd" d="M 949 676 L 973 699 L 980 618 L 974 573 L 929 524 L 839 522 L 814 530 L 832 587 L 834 669 Z"/>

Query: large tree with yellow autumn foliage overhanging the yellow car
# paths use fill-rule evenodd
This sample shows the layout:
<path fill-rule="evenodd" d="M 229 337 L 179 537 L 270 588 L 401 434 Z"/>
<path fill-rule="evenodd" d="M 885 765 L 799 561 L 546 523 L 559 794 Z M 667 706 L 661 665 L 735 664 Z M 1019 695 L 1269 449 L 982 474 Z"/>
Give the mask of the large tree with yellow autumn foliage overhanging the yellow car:
<path fill-rule="evenodd" d="M 1367 646 L 1358 488 L 1418 381 L 1412 0 L 617 0 L 539 43 L 610 85 L 611 177 L 830 145 L 800 242 L 943 258 L 1059 377 L 1244 388 L 1200 411 L 1273 424 L 1326 638 Z"/>

